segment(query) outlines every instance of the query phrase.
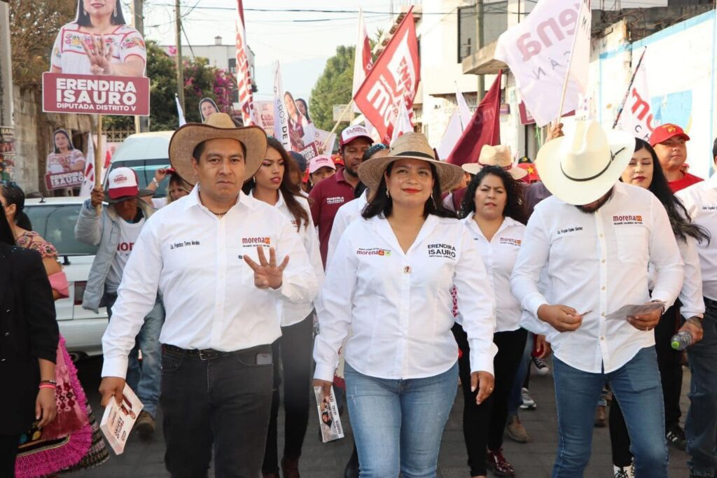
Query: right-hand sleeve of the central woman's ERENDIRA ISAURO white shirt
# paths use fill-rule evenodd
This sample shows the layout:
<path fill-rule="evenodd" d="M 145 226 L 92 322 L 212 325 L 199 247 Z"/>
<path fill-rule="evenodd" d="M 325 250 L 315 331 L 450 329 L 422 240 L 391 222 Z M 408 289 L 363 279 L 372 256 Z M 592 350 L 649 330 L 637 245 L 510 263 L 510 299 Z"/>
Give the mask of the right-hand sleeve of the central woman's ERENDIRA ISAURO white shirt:
<path fill-rule="evenodd" d="M 463 330 L 470 346 L 470 371 L 488 372 L 495 376 L 493 358 L 498 348 L 495 333 L 495 296 L 478 247 L 465 228 L 462 230 L 461 254 L 455 266 L 453 283 L 458 310 L 463 317 Z"/>

